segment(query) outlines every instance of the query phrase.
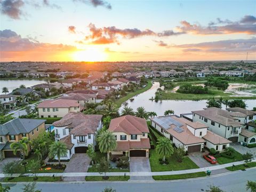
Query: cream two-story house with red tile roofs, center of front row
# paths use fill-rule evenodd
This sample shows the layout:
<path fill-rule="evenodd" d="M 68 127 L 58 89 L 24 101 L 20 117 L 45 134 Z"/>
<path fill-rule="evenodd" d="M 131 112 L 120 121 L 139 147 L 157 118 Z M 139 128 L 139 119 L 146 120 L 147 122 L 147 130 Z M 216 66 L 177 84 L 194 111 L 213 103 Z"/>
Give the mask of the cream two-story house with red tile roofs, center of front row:
<path fill-rule="evenodd" d="M 150 142 L 145 119 L 132 115 L 114 118 L 108 130 L 113 132 L 117 141 L 117 147 L 111 151 L 111 157 L 148 157 Z"/>

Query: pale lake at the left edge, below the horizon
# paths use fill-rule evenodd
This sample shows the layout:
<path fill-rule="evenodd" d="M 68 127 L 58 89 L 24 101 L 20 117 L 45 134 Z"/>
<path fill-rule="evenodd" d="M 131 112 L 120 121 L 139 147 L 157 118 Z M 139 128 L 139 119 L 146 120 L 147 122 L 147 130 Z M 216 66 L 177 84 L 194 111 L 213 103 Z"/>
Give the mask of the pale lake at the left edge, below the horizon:
<path fill-rule="evenodd" d="M 0 80 L 0 90 L 2 92 L 3 87 L 7 87 L 9 92 L 17 89 L 20 85 L 25 85 L 26 87 L 31 87 L 36 84 L 46 83 L 43 80 L 28 80 L 28 79 L 20 79 L 20 80 Z M 2 93 L 1 93 L 2 94 Z"/>

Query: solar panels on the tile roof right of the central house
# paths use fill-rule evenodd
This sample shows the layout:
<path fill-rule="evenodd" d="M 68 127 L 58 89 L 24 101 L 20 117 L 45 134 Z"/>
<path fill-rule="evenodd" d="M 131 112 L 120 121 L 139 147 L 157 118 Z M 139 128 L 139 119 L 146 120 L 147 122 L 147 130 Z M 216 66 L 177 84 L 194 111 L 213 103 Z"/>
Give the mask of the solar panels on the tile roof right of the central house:
<path fill-rule="evenodd" d="M 161 125 L 165 130 L 170 128 L 170 125 L 174 124 L 176 127 L 174 128 L 175 131 L 178 133 L 181 133 L 184 131 L 181 126 L 183 126 L 180 122 L 176 121 L 175 119 L 171 117 L 162 117 L 162 118 L 154 118 L 154 121 Z"/>

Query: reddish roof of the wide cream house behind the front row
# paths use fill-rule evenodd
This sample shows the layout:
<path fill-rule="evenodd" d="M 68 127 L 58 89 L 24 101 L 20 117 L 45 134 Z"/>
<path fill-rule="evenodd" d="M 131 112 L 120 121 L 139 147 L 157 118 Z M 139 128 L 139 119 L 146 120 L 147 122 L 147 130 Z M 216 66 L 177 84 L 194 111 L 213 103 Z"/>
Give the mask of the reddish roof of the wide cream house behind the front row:
<path fill-rule="evenodd" d="M 79 107 L 79 103 L 75 100 L 68 99 L 55 99 L 55 100 L 46 100 L 37 106 L 37 108 L 46 108 L 46 107 L 56 107 L 56 108 L 69 108 L 69 107 Z"/>

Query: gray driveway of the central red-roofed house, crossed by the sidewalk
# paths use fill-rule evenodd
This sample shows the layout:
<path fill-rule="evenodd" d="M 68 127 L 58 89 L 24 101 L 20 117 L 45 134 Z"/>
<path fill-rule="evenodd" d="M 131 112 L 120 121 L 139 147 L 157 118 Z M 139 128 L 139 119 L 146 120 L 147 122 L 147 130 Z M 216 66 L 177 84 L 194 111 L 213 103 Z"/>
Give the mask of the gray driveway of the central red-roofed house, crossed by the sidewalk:
<path fill-rule="evenodd" d="M 130 172 L 151 172 L 149 158 L 130 157 Z M 129 181 L 154 181 L 150 176 L 131 176 Z"/>

